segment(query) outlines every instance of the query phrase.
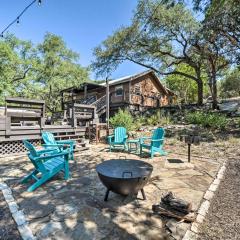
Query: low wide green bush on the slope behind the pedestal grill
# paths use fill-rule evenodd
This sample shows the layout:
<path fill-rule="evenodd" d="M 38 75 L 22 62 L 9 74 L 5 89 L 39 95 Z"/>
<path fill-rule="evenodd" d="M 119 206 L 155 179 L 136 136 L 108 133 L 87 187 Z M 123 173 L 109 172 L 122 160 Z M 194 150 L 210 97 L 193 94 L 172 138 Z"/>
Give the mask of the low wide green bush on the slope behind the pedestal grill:
<path fill-rule="evenodd" d="M 225 129 L 228 120 L 224 115 L 218 113 L 192 112 L 187 113 L 185 117 L 188 123 L 198 124 L 206 128 Z"/>

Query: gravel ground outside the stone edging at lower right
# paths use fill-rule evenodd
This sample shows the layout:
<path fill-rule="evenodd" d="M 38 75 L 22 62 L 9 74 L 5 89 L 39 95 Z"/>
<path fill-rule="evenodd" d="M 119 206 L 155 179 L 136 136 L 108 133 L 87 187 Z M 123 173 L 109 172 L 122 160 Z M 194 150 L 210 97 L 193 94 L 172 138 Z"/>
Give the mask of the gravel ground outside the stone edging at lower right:
<path fill-rule="evenodd" d="M 240 239 L 240 160 L 229 160 L 199 240 Z"/>

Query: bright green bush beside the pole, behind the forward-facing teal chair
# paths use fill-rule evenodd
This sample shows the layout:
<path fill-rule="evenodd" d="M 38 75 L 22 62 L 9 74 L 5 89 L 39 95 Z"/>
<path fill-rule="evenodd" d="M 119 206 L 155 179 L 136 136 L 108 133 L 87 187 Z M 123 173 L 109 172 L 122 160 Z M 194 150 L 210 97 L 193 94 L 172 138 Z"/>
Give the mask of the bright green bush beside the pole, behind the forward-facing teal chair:
<path fill-rule="evenodd" d="M 131 113 L 127 110 L 119 110 L 113 117 L 109 119 L 112 127 L 125 127 L 127 131 L 134 130 L 134 119 Z"/>

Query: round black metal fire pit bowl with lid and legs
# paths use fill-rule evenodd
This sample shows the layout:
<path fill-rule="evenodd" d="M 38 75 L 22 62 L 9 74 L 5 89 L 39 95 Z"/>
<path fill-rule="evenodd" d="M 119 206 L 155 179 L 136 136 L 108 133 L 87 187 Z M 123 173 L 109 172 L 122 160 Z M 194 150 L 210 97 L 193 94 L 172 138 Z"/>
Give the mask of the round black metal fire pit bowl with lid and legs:
<path fill-rule="evenodd" d="M 146 199 L 143 187 L 151 176 L 151 164 L 134 159 L 111 159 L 98 164 L 96 170 L 107 188 L 104 201 L 107 201 L 110 191 L 136 196 L 140 190 L 143 199 Z"/>

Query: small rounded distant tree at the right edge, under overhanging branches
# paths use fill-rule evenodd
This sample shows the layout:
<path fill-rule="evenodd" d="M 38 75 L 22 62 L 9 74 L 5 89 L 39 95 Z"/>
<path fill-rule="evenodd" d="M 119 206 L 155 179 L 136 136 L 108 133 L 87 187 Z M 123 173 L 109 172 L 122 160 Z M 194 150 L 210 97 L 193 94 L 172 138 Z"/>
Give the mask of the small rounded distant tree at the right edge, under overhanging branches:
<path fill-rule="evenodd" d="M 220 96 L 224 98 L 240 96 L 240 69 L 229 71 L 220 84 Z"/>

